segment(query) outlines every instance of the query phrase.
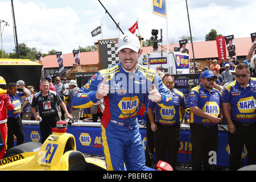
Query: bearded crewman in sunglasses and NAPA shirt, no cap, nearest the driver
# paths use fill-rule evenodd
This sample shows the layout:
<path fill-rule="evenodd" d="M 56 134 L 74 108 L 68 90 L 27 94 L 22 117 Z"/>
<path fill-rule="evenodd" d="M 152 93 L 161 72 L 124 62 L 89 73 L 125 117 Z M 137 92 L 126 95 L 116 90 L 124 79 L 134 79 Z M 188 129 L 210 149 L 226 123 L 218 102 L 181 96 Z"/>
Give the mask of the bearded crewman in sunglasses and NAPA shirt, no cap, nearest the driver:
<path fill-rule="evenodd" d="M 185 98 L 182 92 L 174 89 L 174 76 L 166 74 L 163 77 L 163 83 L 171 90 L 174 96 L 174 104 L 167 105 L 148 102 L 148 117 L 150 118 L 151 129 L 154 131 L 154 146 L 156 152 L 156 161 L 166 161 L 166 151 L 168 152 L 168 161 L 172 168 L 177 170 L 177 152 L 180 145 L 180 122 L 185 114 Z M 153 108 L 155 107 L 154 117 Z M 154 119 L 155 118 L 155 119 Z M 156 121 L 156 123 L 155 123 Z M 156 162 L 156 163 L 157 163 Z"/>

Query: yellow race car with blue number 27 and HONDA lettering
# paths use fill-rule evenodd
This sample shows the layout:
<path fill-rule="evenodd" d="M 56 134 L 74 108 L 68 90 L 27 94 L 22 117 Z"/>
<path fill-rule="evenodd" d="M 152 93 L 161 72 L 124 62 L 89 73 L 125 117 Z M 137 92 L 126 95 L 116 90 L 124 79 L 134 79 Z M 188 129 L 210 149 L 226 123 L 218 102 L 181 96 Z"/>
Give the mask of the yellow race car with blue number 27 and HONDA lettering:
<path fill-rule="evenodd" d="M 0 160 L 0 170 L 106 170 L 104 160 L 85 158 L 76 150 L 75 137 L 66 133 L 67 122 L 59 121 L 56 125 L 43 144 L 27 142 L 10 148 Z"/>

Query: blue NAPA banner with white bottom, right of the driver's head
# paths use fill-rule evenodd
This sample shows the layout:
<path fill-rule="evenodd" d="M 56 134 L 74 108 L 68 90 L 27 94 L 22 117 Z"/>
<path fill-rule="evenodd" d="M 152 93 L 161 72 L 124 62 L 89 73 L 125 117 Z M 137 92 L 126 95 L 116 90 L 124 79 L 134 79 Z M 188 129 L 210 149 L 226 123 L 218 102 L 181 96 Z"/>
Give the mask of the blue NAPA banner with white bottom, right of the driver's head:
<path fill-rule="evenodd" d="M 187 55 L 175 55 L 175 64 L 177 74 L 189 73 L 189 56 Z"/>

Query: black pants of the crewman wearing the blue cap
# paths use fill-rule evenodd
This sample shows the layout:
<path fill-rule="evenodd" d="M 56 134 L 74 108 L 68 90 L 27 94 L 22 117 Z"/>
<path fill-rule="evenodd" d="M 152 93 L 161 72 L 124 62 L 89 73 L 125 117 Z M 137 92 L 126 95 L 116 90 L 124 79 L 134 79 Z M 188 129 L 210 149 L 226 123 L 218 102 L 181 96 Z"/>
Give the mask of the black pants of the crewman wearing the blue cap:
<path fill-rule="evenodd" d="M 192 142 L 192 170 L 202 170 L 202 159 L 204 171 L 211 171 L 213 165 L 209 164 L 210 151 L 217 154 L 218 148 L 218 126 L 204 127 L 199 123 L 190 123 Z"/>

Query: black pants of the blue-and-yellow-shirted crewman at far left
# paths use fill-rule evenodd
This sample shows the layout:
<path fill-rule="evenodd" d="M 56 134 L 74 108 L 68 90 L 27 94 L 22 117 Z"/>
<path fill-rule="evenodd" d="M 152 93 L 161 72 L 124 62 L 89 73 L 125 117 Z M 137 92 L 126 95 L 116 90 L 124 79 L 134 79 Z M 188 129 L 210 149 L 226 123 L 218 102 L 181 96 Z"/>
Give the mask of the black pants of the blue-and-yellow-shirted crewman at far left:
<path fill-rule="evenodd" d="M 13 147 L 14 135 L 17 139 L 16 146 L 24 142 L 24 129 L 20 117 L 7 118 L 7 150 Z"/>

